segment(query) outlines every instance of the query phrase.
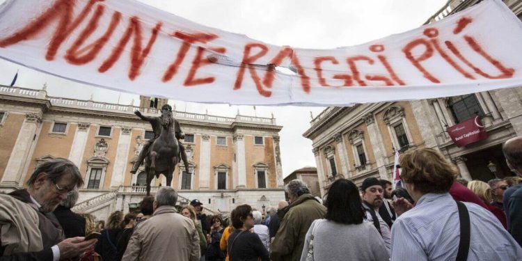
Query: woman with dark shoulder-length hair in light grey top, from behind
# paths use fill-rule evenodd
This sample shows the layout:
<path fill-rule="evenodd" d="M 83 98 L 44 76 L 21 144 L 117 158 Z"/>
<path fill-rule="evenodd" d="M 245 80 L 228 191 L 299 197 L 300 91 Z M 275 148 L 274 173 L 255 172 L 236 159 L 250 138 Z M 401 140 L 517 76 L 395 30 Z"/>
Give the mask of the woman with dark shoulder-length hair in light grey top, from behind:
<path fill-rule="evenodd" d="M 365 212 L 354 182 L 341 179 L 331 184 L 326 197 L 326 219 L 315 220 L 301 253 L 306 260 L 313 242 L 314 260 L 388 260 L 384 240 L 372 223 L 364 222 Z M 313 239 L 313 241 L 312 241 Z"/>

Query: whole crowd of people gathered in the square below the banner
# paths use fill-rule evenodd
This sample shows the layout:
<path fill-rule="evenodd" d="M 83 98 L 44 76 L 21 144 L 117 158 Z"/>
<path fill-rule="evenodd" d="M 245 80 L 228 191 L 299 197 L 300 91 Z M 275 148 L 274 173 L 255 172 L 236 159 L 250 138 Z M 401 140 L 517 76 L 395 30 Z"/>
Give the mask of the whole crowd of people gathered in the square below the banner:
<path fill-rule="evenodd" d="M 322 200 L 292 180 L 266 216 L 246 204 L 207 216 L 199 200 L 180 207 L 160 187 L 105 222 L 72 212 L 84 181 L 52 159 L 26 189 L 0 195 L 0 260 L 522 260 L 522 137 L 503 153 L 519 177 L 461 180 L 441 152 L 421 148 L 400 157 L 403 187 L 339 179 Z"/>

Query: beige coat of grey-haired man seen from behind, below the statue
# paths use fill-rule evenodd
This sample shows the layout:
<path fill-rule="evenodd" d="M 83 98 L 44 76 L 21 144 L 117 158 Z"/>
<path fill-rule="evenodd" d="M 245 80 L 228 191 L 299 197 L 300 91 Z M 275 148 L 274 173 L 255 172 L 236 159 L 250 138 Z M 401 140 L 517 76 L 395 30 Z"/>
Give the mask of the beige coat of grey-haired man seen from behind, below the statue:
<path fill-rule="evenodd" d="M 200 259 L 198 231 L 191 219 L 174 207 L 161 206 L 134 230 L 122 260 Z"/>

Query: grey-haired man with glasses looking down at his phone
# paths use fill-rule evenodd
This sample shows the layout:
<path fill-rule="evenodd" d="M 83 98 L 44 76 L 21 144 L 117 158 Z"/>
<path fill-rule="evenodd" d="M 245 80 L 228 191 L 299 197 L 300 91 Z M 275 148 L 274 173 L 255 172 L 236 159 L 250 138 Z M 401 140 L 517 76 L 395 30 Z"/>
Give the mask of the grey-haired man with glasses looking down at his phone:
<path fill-rule="evenodd" d="M 0 260 L 66 260 L 76 258 L 96 239 L 65 239 L 52 211 L 84 180 L 68 159 L 37 166 L 27 189 L 0 195 Z"/>

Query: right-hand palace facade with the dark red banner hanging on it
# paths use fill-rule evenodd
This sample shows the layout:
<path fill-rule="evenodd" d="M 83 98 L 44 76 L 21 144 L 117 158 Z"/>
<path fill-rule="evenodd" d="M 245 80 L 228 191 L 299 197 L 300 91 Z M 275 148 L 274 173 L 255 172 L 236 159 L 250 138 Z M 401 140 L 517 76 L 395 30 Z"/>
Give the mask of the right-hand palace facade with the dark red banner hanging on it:
<path fill-rule="evenodd" d="M 427 21 L 433 22 L 478 1 L 448 1 Z M 504 1 L 522 17 L 522 1 Z M 476 115 L 488 138 L 458 147 L 446 129 Z M 436 148 L 459 167 L 467 180 L 488 181 L 513 175 L 502 144 L 522 136 L 522 88 L 412 102 L 328 107 L 303 134 L 313 141 L 321 194 L 340 177 L 361 184 L 367 177 L 392 180 L 395 150 Z"/>

